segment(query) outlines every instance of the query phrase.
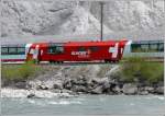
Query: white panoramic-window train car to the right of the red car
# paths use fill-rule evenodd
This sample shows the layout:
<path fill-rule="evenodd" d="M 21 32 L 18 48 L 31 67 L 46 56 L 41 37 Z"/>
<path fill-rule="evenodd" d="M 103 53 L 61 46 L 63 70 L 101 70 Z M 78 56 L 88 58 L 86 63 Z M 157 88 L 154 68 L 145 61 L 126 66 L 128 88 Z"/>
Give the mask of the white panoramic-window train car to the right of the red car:
<path fill-rule="evenodd" d="M 164 60 L 164 40 L 129 40 L 123 53 L 123 58 L 128 57 Z"/>

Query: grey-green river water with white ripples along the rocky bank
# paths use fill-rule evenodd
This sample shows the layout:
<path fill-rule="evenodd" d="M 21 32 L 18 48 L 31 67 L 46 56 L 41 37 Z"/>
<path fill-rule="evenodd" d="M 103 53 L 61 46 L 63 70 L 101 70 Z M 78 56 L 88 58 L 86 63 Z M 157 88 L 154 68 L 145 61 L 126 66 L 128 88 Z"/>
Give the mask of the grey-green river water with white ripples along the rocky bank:
<path fill-rule="evenodd" d="M 1 98 L 2 116 L 165 116 L 157 95 L 80 95 L 69 98 Z"/>

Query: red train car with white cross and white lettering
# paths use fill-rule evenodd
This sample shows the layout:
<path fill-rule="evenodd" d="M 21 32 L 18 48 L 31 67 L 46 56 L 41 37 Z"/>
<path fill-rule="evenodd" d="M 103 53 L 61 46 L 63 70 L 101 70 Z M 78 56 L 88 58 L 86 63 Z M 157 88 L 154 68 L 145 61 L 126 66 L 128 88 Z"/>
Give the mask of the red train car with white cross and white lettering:
<path fill-rule="evenodd" d="M 63 61 L 119 61 L 128 40 L 35 43 L 28 45 L 26 60 Z"/>

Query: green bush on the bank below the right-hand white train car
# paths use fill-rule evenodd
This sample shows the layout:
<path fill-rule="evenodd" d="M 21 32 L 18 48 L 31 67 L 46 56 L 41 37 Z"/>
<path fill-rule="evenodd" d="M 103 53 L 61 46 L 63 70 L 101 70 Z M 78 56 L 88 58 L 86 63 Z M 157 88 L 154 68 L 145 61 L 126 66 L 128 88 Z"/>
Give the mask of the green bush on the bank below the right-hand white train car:
<path fill-rule="evenodd" d="M 144 58 L 131 57 L 121 62 L 121 78 L 125 82 L 145 82 L 148 84 L 163 81 L 164 65 L 146 61 Z"/>

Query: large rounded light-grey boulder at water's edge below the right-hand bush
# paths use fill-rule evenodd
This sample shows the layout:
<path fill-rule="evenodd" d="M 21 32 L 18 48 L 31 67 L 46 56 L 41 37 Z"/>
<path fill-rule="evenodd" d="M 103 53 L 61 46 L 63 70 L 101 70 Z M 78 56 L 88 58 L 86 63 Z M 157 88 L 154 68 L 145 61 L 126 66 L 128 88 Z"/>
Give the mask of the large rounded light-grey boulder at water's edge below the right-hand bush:
<path fill-rule="evenodd" d="M 132 83 L 127 83 L 123 85 L 123 93 L 128 95 L 133 95 L 138 93 L 138 86 Z"/>

